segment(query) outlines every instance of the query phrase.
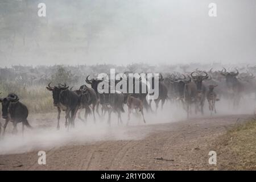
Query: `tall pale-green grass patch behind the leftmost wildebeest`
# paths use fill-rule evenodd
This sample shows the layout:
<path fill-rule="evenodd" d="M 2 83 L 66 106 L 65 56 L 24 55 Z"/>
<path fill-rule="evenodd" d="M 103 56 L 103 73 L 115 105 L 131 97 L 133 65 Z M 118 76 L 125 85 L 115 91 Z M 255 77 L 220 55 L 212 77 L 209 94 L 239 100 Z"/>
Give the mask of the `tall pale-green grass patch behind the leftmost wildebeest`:
<path fill-rule="evenodd" d="M 15 82 L 0 83 L 1 98 L 9 93 L 19 96 L 20 102 L 28 107 L 30 113 L 49 113 L 55 111 L 52 100 L 52 93 L 46 89 L 45 85 L 24 86 Z"/>

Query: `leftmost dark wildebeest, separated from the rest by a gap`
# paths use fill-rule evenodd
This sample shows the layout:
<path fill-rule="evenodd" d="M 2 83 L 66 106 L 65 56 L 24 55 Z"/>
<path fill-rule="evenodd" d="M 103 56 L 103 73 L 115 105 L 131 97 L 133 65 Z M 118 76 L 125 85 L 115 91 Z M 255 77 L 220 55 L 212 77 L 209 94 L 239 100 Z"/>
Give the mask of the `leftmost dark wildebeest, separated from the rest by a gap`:
<path fill-rule="evenodd" d="M 0 98 L 0 102 L 2 102 L 2 118 L 5 119 L 3 135 L 5 135 L 6 126 L 9 121 L 13 123 L 13 133 L 18 131 L 17 124 L 20 122 L 22 123 L 22 134 L 24 132 L 25 125 L 30 129 L 32 128 L 27 121 L 27 106 L 19 102 L 19 97 L 16 94 L 10 93 L 7 97 Z"/>

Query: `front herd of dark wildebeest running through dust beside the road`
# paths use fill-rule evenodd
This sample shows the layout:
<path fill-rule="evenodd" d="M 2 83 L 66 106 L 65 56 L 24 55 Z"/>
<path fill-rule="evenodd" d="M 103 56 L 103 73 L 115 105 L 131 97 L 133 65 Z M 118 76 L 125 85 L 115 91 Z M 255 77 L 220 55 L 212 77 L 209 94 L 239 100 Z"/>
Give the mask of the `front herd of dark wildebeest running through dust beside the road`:
<path fill-rule="evenodd" d="M 123 73 L 126 74 L 126 73 Z M 142 75 L 142 74 L 140 74 Z M 144 73 L 147 75 L 147 73 Z M 110 80 L 98 79 L 97 77 L 85 78 L 85 83 L 77 90 L 69 88 L 65 83 L 52 85 L 51 82 L 46 89 L 52 92 L 53 105 L 57 107 L 57 129 L 60 128 L 60 113 L 65 111 L 65 127 L 68 129 L 75 127 L 75 118 L 77 117 L 86 122 L 89 114 L 93 114 L 94 122 L 96 122 L 96 114 L 98 117 L 104 117 L 108 113 L 108 123 L 112 121 L 112 113 L 117 114 L 118 124 L 122 123 L 122 113 L 125 113 L 124 106 L 127 105 L 128 121 L 130 114 L 135 109 L 142 115 L 142 121 L 146 123 L 144 118 L 144 110 L 146 113 L 156 113 L 159 102 L 161 101 L 162 109 L 164 103 L 169 101 L 183 110 L 187 114 L 187 118 L 193 113 L 204 114 L 205 104 L 208 102 L 210 114 L 217 113 L 216 102 L 227 100 L 232 103 L 233 109 L 237 109 L 244 97 L 256 97 L 256 80 L 254 74 L 249 71 L 240 73 L 238 69 L 227 71 L 226 68 L 221 70 L 203 71 L 195 69 L 192 72 L 171 72 L 159 73 L 159 77 L 151 77 L 152 80 L 158 79 L 159 96 L 154 99 L 155 109 L 151 107 L 151 101 L 147 100 L 147 94 L 141 92 L 144 84 L 143 77 L 133 77 L 133 85 L 127 84 L 127 90 L 135 90 L 135 82 L 139 85 L 139 93 L 122 93 L 116 90 L 114 93 L 98 92 L 98 84 L 107 82 L 111 88 Z M 127 83 L 130 77 L 127 77 Z M 120 81 L 120 80 L 119 80 Z M 118 80 L 114 84 L 117 85 Z M 152 81 L 154 83 L 154 81 Z M 133 88 L 129 88 L 129 87 Z M 153 87 L 156 85 L 152 85 Z M 0 98 L 2 103 L 2 118 L 5 124 L 0 126 L 5 134 L 6 126 L 9 121 L 13 123 L 13 133 L 16 133 L 16 125 L 22 123 L 22 131 L 24 126 L 32 128 L 27 121 L 28 109 L 19 101 L 19 93 L 10 93 L 5 98 Z M 81 117 L 81 111 L 85 110 L 84 118 Z M 101 109 L 101 111 L 100 111 Z M 127 121 L 127 124 L 128 124 Z"/>

